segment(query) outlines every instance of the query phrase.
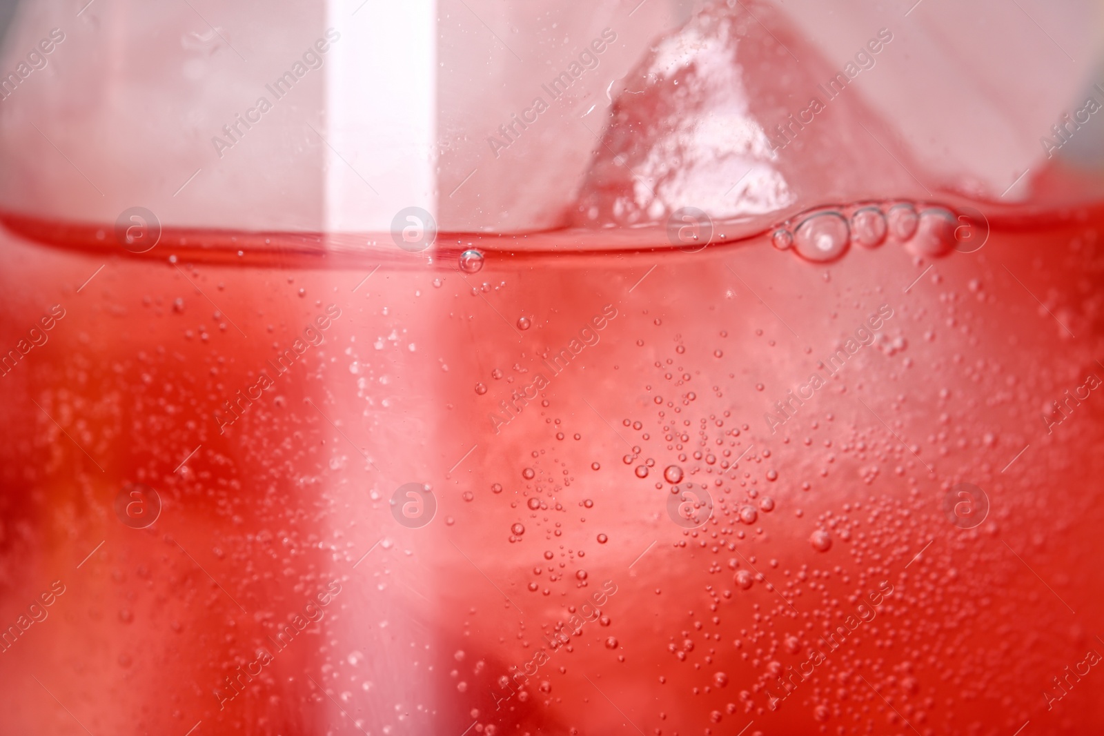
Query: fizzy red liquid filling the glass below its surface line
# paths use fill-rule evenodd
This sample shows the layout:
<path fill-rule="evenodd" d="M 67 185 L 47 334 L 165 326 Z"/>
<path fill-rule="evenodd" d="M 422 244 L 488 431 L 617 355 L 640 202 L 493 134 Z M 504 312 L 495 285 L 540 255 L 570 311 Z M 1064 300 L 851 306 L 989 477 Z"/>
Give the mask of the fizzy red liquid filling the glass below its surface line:
<path fill-rule="evenodd" d="M 64 317 L 0 378 L 0 625 L 45 614 L 0 730 L 1096 733 L 1101 220 L 934 262 L 482 244 L 477 274 L 6 234 L 3 350 Z"/>

